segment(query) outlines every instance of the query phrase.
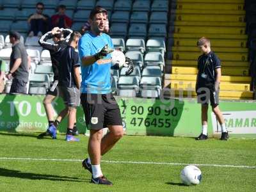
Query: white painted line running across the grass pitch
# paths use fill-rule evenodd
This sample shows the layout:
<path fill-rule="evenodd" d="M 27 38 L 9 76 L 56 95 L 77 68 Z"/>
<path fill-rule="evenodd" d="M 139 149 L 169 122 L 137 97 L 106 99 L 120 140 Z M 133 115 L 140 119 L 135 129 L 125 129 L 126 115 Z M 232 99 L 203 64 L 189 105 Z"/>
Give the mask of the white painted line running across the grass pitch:
<path fill-rule="evenodd" d="M 0 160 L 24 160 L 24 161 L 83 161 L 83 159 L 44 159 L 44 158 L 22 158 L 22 157 L 0 157 Z M 188 165 L 189 163 L 164 163 L 164 162 L 145 162 L 145 161 L 108 161 L 102 160 L 104 163 L 123 163 L 123 164 L 164 164 L 164 165 Z M 256 166 L 233 165 L 233 164 L 196 164 L 195 166 L 216 166 L 228 168 L 248 168 L 255 169 Z"/>

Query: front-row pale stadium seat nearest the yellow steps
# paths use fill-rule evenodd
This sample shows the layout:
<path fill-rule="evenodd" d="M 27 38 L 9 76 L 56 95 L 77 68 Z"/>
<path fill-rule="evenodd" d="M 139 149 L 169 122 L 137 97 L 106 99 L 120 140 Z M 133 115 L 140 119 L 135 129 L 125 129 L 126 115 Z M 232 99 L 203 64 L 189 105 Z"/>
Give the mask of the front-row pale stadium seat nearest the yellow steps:
<path fill-rule="evenodd" d="M 141 97 L 159 97 L 161 95 L 161 78 L 160 77 L 142 77 L 140 83 Z"/>

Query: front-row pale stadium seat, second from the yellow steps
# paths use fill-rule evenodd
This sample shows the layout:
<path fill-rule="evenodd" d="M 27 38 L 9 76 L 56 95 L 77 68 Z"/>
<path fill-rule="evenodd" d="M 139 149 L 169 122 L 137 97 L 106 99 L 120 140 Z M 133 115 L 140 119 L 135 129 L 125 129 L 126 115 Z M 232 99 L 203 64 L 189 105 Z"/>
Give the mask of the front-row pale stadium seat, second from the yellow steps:
<path fill-rule="evenodd" d="M 140 79 L 135 76 L 122 76 L 118 81 L 119 95 L 121 97 L 136 97 L 139 91 Z"/>

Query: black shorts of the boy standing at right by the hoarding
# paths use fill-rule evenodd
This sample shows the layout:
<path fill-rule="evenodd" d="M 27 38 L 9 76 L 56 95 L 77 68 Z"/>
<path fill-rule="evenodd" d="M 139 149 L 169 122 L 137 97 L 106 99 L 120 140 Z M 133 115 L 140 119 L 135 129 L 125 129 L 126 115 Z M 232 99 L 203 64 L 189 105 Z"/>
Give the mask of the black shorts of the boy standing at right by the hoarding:
<path fill-rule="evenodd" d="M 219 93 L 212 91 L 212 89 L 207 89 L 207 91 L 202 90 L 201 92 L 197 92 L 197 102 L 201 104 L 209 104 L 209 100 L 211 102 L 211 106 L 218 106 L 219 105 Z"/>

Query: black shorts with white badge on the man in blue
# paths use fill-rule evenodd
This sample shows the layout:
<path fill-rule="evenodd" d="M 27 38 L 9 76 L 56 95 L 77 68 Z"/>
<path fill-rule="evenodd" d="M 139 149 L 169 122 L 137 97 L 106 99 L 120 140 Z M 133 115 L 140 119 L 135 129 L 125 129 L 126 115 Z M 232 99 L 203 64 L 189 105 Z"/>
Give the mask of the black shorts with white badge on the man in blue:
<path fill-rule="evenodd" d="M 120 109 L 112 93 L 82 93 L 81 104 L 87 129 L 99 130 L 108 125 L 122 125 Z"/>

